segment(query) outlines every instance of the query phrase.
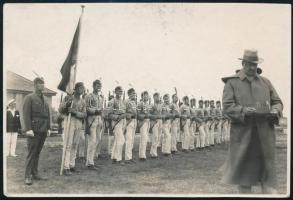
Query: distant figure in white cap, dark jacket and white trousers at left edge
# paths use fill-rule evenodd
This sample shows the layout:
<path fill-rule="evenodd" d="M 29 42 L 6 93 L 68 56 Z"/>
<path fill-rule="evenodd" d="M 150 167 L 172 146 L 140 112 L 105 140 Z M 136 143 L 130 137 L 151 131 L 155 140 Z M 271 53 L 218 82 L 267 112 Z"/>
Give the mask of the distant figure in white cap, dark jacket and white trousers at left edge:
<path fill-rule="evenodd" d="M 6 112 L 6 138 L 7 138 L 7 156 L 16 157 L 15 149 L 17 142 L 17 135 L 21 129 L 19 111 L 15 110 L 15 99 L 8 102 Z"/>

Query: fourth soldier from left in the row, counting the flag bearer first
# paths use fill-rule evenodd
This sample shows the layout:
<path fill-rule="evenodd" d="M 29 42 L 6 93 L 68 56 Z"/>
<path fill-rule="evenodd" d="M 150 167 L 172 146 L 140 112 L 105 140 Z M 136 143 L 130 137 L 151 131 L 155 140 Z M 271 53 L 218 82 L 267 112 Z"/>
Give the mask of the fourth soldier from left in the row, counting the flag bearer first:
<path fill-rule="evenodd" d="M 125 134 L 125 163 L 135 163 L 132 158 L 134 137 L 137 125 L 137 111 L 135 101 L 135 90 L 130 88 L 127 91 L 128 100 L 126 101 L 126 134 Z"/>

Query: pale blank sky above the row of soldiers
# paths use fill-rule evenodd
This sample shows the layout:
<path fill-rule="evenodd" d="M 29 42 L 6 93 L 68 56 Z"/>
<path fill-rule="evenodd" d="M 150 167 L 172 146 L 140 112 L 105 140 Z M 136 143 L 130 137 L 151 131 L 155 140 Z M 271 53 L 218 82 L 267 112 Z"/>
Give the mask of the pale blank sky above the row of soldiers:
<path fill-rule="evenodd" d="M 240 69 L 244 49 L 256 49 L 259 66 L 290 114 L 291 7 L 278 4 L 97 3 L 85 5 L 77 81 L 102 92 L 131 84 L 179 97 L 221 100 L 222 77 Z M 80 4 L 5 4 L 4 74 L 29 79 L 35 71 L 46 87 L 61 92 L 60 69 L 81 14 Z M 289 117 L 289 116 L 288 116 Z"/>

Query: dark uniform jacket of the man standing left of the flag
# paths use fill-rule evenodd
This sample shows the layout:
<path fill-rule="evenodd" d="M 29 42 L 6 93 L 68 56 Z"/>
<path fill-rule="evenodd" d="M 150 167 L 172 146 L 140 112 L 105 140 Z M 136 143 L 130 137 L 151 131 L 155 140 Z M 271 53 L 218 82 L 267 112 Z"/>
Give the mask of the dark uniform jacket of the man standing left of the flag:
<path fill-rule="evenodd" d="M 32 93 L 25 97 L 23 121 L 24 131 L 47 132 L 50 129 L 50 109 L 43 95 Z"/>

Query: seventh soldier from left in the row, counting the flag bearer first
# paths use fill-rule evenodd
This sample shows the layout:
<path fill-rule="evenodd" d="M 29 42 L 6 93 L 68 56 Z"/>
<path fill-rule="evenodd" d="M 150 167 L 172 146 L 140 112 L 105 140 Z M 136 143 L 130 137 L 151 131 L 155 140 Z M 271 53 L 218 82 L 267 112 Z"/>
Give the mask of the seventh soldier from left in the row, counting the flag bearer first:
<path fill-rule="evenodd" d="M 163 140 L 162 140 L 162 153 L 165 156 L 171 154 L 171 120 L 173 120 L 173 115 L 170 109 L 170 97 L 168 94 L 163 96 L 164 103 L 162 105 L 162 116 L 163 116 Z"/>

